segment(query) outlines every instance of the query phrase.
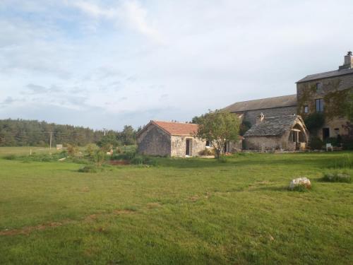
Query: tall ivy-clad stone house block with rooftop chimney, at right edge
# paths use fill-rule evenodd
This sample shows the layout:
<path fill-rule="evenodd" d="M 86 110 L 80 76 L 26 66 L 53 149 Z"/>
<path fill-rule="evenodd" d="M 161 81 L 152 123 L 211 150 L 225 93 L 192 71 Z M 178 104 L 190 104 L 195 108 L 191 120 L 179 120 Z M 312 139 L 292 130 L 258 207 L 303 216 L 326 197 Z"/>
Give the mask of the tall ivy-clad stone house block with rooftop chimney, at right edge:
<path fill-rule="evenodd" d="M 306 76 L 297 82 L 297 113 L 304 118 L 314 112 L 322 112 L 325 116 L 325 124 L 318 130 L 321 139 L 347 134 L 345 100 L 353 90 L 353 69 L 349 61 L 353 61 L 353 57 L 347 54 L 347 65 L 340 66 L 340 70 Z"/>

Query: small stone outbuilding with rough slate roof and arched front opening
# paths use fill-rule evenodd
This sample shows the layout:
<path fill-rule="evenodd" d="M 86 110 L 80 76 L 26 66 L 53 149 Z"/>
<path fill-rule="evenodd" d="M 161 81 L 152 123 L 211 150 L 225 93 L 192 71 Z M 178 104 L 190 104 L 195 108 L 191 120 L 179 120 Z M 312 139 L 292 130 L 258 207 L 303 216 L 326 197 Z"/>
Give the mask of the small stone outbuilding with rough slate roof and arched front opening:
<path fill-rule="evenodd" d="M 244 147 L 256 151 L 297 151 L 306 149 L 308 139 L 308 130 L 299 115 L 260 114 L 256 125 L 244 134 Z"/>

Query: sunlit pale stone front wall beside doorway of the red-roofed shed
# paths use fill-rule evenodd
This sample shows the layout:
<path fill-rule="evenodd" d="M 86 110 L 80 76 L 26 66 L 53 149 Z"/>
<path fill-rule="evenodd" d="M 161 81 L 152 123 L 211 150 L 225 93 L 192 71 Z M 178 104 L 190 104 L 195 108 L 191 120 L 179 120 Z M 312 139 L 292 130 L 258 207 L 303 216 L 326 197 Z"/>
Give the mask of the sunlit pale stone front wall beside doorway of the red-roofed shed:
<path fill-rule="evenodd" d="M 206 141 L 196 139 L 188 136 L 172 136 L 171 137 L 171 148 L 172 156 L 185 157 L 186 155 L 186 139 L 190 139 L 190 156 L 198 156 L 200 151 L 203 151 L 206 147 Z"/>

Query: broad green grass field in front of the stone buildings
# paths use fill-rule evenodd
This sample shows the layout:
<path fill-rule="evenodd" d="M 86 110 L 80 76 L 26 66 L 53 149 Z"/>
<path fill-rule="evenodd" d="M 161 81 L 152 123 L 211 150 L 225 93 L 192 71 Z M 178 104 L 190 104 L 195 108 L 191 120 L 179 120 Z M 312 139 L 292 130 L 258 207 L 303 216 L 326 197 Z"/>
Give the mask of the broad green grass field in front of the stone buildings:
<path fill-rule="evenodd" d="M 320 181 L 330 165 L 352 174 L 339 163 L 352 155 L 157 158 L 98 173 L 0 159 L 0 264 L 353 264 L 353 184 Z M 313 189 L 287 191 L 301 176 Z"/>

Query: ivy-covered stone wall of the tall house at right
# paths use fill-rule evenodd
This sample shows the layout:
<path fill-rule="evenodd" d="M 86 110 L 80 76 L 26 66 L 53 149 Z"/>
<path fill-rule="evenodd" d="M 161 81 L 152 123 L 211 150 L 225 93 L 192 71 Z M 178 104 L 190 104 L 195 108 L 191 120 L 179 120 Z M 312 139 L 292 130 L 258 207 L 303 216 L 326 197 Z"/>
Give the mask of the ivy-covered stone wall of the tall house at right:
<path fill-rule="evenodd" d="M 321 83 L 321 88 L 318 90 L 316 90 L 316 83 Z M 337 133 L 347 134 L 343 125 L 347 124 L 348 120 L 342 114 L 340 107 L 343 106 L 342 102 L 347 98 L 346 93 L 352 89 L 353 74 L 297 83 L 297 112 L 304 118 L 308 114 L 316 112 L 316 99 L 322 98 L 325 113 L 325 124 L 322 128 L 330 130 L 330 137 L 337 136 Z M 305 105 L 309 107 L 309 113 L 304 113 Z M 322 129 L 318 131 L 318 136 L 323 138 Z"/>

